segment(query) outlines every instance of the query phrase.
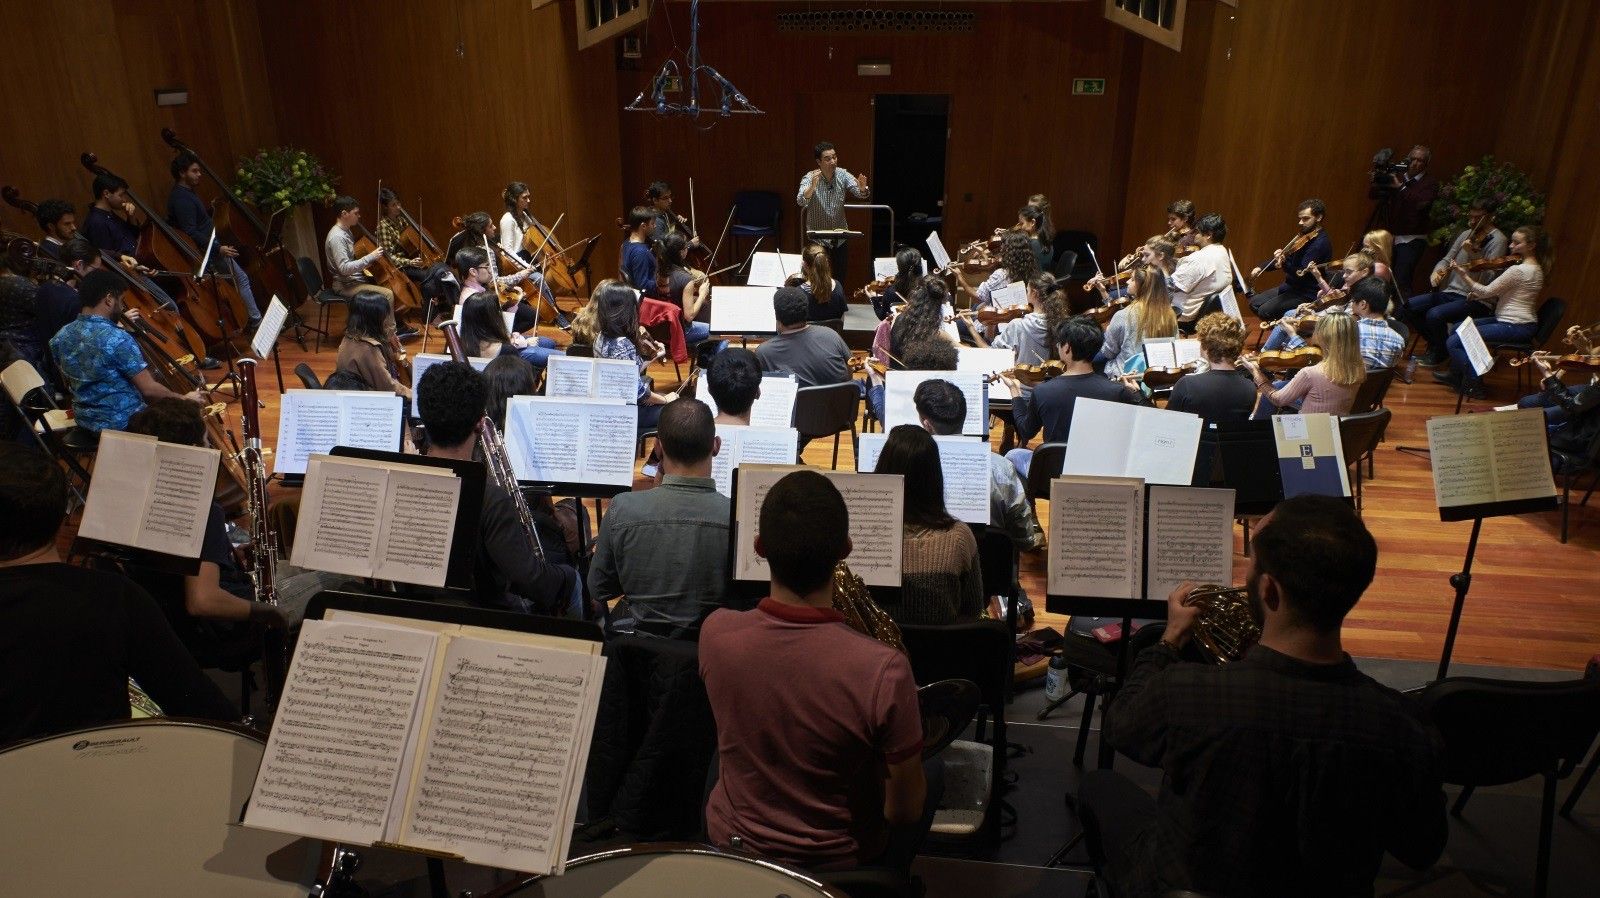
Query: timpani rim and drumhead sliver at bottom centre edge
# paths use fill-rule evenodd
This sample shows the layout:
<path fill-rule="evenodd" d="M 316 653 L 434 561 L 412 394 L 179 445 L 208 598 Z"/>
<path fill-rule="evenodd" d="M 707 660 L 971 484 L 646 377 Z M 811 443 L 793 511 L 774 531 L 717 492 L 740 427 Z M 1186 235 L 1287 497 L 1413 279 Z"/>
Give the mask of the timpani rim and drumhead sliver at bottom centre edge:
<path fill-rule="evenodd" d="M 485 898 L 843 898 L 779 863 L 709 845 L 626 845 L 566 861 L 560 876 L 512 882 Z"/>

